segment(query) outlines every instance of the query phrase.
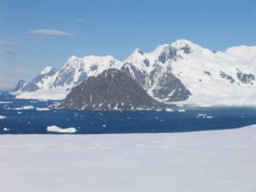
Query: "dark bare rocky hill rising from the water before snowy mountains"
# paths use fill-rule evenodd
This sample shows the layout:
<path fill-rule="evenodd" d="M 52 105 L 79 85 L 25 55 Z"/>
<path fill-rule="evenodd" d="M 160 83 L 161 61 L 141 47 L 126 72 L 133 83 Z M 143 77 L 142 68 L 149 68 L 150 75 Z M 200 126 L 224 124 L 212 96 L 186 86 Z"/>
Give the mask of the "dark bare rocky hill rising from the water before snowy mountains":
<path fill-rule="evenodd" d="M 110 68 L 75 86 L 57 108 L 80 110 L 156 110 L 166 106 L 155 101 L 124 72 Z"/>

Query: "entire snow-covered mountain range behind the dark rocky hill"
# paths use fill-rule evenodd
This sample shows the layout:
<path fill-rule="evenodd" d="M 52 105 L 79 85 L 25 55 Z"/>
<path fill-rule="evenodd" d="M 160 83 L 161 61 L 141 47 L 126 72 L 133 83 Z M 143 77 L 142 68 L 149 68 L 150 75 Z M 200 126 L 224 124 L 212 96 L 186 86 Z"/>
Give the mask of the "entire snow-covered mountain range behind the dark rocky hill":
<path fill-rule="evenodd" d="M 256 46 L 238 46 L 225 52 L 204 49 L 188 40 L 140 49 L 125 61 L 112 56 L 72 56 L 57 71 L 45 67 L 13 94 L 26 99 L 64 99 L 70 90 L 108 68 L 117 68 L 136 80 L 162 103 L 195 105 L 256 104 Z"/>

